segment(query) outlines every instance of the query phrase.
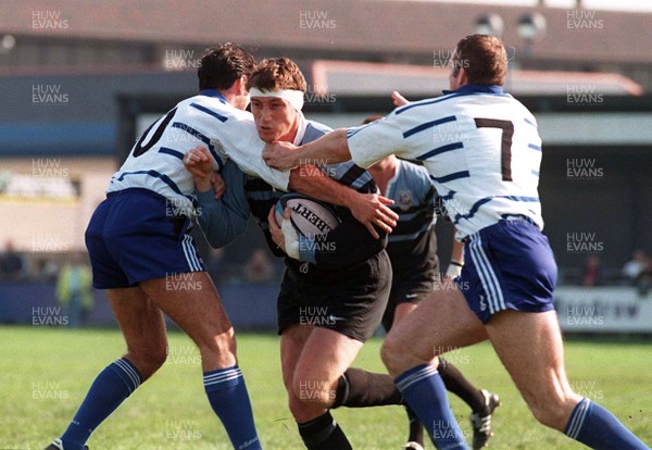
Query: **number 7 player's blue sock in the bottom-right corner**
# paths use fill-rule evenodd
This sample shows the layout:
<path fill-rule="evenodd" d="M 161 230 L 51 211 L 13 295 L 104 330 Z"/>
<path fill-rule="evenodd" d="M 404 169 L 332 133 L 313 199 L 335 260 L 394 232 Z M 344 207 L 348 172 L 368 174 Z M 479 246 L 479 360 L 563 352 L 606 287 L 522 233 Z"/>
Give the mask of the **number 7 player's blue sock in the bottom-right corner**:
<path fill-rule="evenodd" d="M 639 438 L 625 428 L 611 412 L 584 398 L 570 413 L 564 434 L 599 450 L 645 450 Z"/>

